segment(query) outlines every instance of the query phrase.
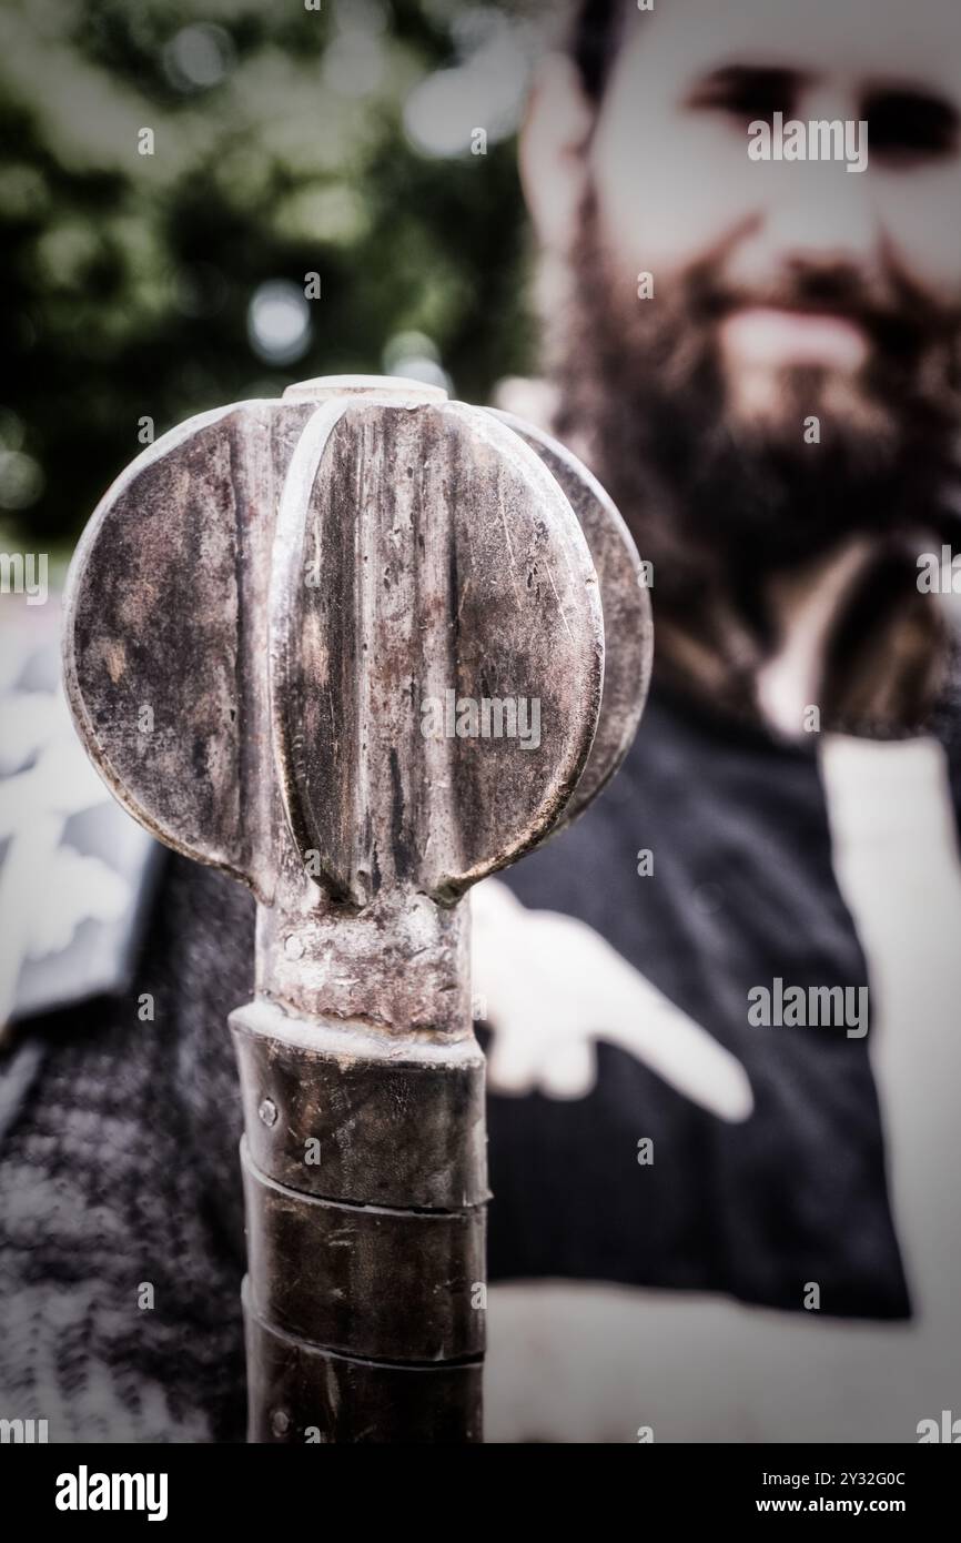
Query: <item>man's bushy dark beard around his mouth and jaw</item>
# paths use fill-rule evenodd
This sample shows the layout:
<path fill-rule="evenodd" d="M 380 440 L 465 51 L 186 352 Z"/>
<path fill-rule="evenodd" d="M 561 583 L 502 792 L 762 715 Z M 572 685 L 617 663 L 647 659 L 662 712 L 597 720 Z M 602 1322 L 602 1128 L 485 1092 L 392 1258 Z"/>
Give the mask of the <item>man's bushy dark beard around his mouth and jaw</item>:
<path fill-rule="evenodd" d="M 958 315 L 895 275 L 878 293 L 819 275 L 759 298 L 841 310 L 873 344 L 845 412 L 831 415 L 819 369 L 785 376 L 785 435 L 733 421 L 717 322 L 739 296 L 717 278 L 723 253 L 669 284 L 656 279 L 656 299 L 622 304 L 588 196 L 571 273 L 582 281 L 554 338 L 555 427 L 586 454 L 654 563 L 659 616 L 719 594 L 764 626 L 760 580 L 771 572 L 858 532 L 956 532 Z M 810 415 L 821 417 L 819 444 L 804 441 Z"/>

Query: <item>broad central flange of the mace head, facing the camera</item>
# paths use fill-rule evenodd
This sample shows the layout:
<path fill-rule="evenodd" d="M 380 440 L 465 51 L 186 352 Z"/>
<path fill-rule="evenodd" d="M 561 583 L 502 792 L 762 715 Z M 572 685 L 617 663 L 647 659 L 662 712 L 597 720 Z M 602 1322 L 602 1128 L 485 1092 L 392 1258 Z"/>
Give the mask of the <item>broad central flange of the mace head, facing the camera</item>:
<path fill-rule="evenodd" d="M 449 901 L 555 824 L 594 736 L 603 623 L 580 528 L 518 435 L 460 403 L 322 406 L 273 579 L 284 802 L 333 898 Z M 537 702 L 537 744 L 424 734 L 447 691 Z"/>

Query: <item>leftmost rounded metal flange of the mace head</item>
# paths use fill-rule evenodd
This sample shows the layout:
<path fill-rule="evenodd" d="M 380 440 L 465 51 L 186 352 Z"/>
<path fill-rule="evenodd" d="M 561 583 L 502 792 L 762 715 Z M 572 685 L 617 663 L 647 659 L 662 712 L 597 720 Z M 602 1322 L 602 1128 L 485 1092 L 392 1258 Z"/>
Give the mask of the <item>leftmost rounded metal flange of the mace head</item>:
<path fill-rule="evenodd" d="M 245 623 L 265 616 L 275 511 L 310 412 L 241 403 L 157 440 L 94 512 L 65 600 L 68 699 L 108 787 L 262 901 L 282 815 Z"/>

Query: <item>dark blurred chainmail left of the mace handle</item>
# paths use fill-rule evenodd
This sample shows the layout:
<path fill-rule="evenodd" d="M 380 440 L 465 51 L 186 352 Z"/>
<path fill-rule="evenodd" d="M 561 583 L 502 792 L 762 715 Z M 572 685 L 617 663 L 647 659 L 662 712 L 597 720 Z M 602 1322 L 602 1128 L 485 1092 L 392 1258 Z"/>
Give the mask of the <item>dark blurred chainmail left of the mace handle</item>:
<path fill-rule="evenodd" d="M 245 1432 L 227 1014 L 253 992 L 255 906 L 170 856 L 153 918 L 128 995 L 26 1025 L 0 1060 L 8 1083 L 39 1060 L 2 1140 L 0 1418 L 49 1441 Z"/>

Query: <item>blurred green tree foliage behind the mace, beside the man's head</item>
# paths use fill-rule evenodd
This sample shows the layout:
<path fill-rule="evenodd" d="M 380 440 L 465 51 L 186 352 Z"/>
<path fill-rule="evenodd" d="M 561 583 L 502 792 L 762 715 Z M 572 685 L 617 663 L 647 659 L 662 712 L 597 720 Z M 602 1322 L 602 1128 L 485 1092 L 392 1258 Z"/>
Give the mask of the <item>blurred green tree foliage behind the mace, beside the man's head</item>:
<path fill-rule="evenodd" d="M 71 542 L 143 420 L 341 370 L 483 401 L 528 367 L 532 46 L 457 0 L 5 0 L 8 531 Z"/>

